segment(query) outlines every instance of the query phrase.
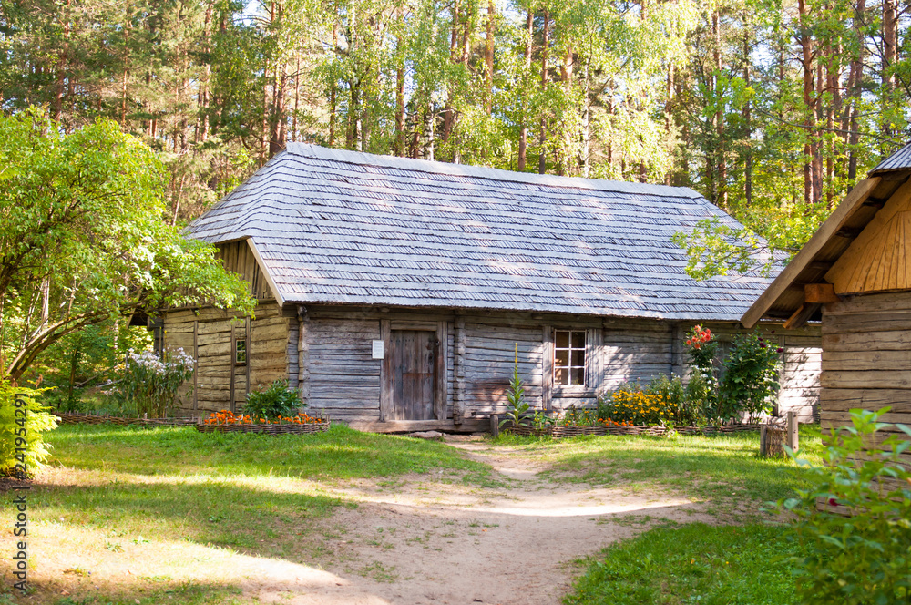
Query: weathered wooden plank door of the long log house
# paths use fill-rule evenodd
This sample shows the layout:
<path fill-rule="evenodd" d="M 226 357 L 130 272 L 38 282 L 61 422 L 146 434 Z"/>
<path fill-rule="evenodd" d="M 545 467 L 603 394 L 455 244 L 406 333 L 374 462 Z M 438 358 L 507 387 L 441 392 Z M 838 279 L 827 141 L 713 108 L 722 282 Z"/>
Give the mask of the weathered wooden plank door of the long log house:
<path fill-rule="evenodd" d="M 433 420 L 436 367 L 436 333 L 425 330 L 391 330 L 388 420 Z"/>

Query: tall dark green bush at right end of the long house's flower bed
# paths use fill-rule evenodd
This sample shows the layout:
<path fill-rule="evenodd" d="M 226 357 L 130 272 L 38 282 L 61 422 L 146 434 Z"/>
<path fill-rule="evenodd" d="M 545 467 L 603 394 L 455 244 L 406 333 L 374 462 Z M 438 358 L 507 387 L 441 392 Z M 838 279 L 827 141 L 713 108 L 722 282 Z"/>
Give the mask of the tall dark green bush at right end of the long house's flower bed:
<path fill-rule="evenodd" d="M 731 352 L 722 362 L 724 374 L 714 415 L 731 420 L 746 412 L 752 419 L 771 412 L 773 397 L 778 393 L 781 353 L 781 348 L 767 343 L 758 333 L 735 336 Z"/>

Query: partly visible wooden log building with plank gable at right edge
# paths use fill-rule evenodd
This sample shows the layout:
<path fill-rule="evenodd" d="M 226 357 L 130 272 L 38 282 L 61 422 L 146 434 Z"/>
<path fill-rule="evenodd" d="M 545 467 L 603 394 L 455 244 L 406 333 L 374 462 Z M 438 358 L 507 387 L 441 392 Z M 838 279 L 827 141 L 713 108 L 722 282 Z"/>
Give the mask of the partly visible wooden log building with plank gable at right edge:
<path fill-rule="evenodd" d="M 763 318 L 822 321 L 824 432 L 885 405 L 885 422 L 911 425 L 911 145 L 855 185 L 742 323 Z"/>

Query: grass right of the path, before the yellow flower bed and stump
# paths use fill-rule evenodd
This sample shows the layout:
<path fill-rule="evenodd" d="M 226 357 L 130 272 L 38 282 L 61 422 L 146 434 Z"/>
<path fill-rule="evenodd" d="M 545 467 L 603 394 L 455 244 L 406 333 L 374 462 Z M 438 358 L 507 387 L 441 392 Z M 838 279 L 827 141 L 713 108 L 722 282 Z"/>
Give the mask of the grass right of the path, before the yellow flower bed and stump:
<path fill-rule="evenodd" d="M 501 437 L 550 462 L 543 476 L 599 487 L 673 489 L 691 497 L 767 502 L 804 487 L 790 459 L 759 456 L 759 433 L 718 436 Z M 821 464 L 819 426 L 802 425 L 798 456 Z"/>

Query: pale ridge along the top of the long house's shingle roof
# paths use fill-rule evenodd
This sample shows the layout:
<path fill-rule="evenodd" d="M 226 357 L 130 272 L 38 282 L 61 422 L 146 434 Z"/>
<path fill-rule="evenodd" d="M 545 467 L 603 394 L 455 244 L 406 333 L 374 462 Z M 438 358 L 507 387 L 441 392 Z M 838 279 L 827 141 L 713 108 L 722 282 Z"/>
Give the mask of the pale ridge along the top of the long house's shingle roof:
<path fill-rule="evenodd" d="M 287 153 L 303 156 L 305 158 L 331 159 L 334 161 L 356 164 L 358 166 L 380 166 L 414 170 L 415 172 L 429 172 L 433 174 L 446 174 L 453 176 L 476 177 L 478 179 L 491 179 L 496 181 L 511 180 L 529 185 L 547 185 L 550 187 L 571 187 L 574 189 L 618 191 L 621 193 L 654 193 L 676 198 L 701 198 L 702 196 L 689 187 L 674 187 L 671 185 L 657 185 L 652 183 L 635 183 L 624 180 L 583 179 L 581 177 L 560 177 L 553 174 L 534 174 L 531 172 L 516 172 L 486 166 L 472 166 L 470 164 L 450 164 L 448 162 L 431 161 L 429 159 L 398 158 L 395 156 L 381 156 L 363 151 L 349 151 L 347 149 L 330 149 L 313 145 L 312 143 L 288 142 L 285 147 Z"/>

